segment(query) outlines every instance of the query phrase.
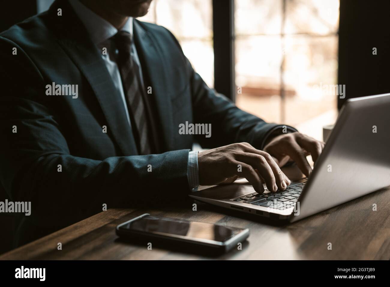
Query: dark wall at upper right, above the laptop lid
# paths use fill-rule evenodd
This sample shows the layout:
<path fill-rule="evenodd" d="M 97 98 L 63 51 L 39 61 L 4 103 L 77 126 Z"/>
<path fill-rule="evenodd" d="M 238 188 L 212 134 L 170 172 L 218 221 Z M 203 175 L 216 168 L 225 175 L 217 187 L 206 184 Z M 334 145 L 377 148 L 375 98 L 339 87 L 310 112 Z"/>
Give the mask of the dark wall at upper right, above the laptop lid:
<path fill-rule="evenodd" d="M 340 0 L 339 109 L 347 98 L 390 93 L 389 11 L 389 0 Z"/>

